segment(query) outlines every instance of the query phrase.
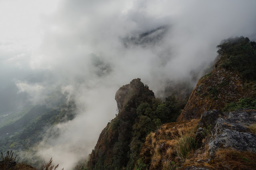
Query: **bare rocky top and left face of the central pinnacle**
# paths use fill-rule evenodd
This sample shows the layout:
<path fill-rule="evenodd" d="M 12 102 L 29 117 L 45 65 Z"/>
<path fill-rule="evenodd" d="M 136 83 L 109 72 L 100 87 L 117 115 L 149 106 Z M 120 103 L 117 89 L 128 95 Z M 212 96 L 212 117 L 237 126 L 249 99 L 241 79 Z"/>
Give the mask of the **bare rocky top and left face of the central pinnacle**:
<path fill-rule="evenodd" d="M 150 103 L 154 93 L 140 79 L 134 79 L 116 92 L 118 115 L 102 130 L 98 142 L 90 154 L 89 169 L 120 169 L 129 161 L 132 126 L 140 103 Z"/>

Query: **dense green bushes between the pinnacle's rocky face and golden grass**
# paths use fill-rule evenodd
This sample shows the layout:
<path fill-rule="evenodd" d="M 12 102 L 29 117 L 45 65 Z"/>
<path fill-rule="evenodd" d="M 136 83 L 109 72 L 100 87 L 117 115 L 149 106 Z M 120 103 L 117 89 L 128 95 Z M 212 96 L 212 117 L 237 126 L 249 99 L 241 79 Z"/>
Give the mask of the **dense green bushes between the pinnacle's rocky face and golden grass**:
<path fill-rule="evenodd" d="M 136 162 L 138 162 L 140 150 L 147 134 L 164 123 L 176 121 L 183 107 L 184 105 L 180 104 L 175 97 L 167 97 L 164 102 L 153 99 L 151 103 L 141 103 L 138 106 L 136 110 L 138 117 L 132 127 L 130 160 L 127 169 L 133 169 Z"/>

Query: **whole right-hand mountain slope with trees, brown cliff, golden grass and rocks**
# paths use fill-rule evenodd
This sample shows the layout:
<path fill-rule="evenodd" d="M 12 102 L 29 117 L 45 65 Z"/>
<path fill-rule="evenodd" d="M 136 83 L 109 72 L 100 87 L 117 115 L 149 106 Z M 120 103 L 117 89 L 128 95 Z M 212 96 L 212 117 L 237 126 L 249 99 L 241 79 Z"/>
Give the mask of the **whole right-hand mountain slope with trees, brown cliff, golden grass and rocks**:
<path fill-rule="evenodd" d="M 256 169 L 255 42 L 231 38 L 218 47 L 215 69 L 198 81 L 177 122 L 147 136 L 138 169 Z"/>

